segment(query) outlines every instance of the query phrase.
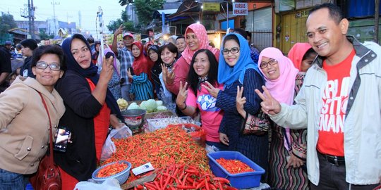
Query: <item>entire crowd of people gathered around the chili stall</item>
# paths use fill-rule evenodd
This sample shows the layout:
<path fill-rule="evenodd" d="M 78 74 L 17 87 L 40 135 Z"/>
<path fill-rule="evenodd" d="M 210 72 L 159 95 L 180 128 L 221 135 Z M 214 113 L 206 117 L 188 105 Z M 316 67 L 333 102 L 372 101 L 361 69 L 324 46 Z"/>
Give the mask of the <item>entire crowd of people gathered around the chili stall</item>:
<path fill-rule="evenodd" d="M 161 99 L 199 117 L 207 151 L 243 153 L 274 189 L 373 189 L 381 181 L 381 47 L 347 36 L 348 27 L 339 7 L 315 6 L 308 43 L 287 56 L 258 51 L 239 28 L 217 49 L 200 24 L 162 46 L 121 26 L 103 54 L 81 34 L 61 46 L 25 39 L 20 77 L 0 94 L 0 189 L 23 189 L 49 148 L 42 100 L 53 132 L 71 130 L 66 152 L 54 152 L 62 189 L 90 179 L 109 127 L 125 125 L 119 98 Z M 8 58 L 1 48 L 0 86 Z"/>

